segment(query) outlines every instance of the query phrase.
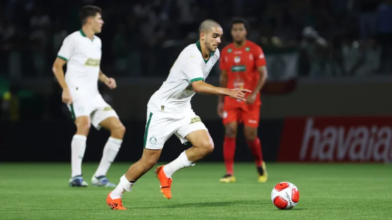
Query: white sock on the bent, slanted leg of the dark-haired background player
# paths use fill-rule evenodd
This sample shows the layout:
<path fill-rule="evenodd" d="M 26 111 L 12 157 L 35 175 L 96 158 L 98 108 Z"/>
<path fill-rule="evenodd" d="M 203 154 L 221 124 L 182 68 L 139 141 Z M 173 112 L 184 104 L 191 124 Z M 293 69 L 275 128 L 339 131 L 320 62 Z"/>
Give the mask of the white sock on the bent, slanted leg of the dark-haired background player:
<path fill-rule="evenodd" d="M 106 142 L 104 153 L 102 154 L 102 159 L 100 165 L 95 171 L 94 176 L 106 176 L 110 165 L 116 158 L 118 150 L 121 147 L 122 140 L 115 139 L 114 137 L 109 137 L 108 142 Z"/>

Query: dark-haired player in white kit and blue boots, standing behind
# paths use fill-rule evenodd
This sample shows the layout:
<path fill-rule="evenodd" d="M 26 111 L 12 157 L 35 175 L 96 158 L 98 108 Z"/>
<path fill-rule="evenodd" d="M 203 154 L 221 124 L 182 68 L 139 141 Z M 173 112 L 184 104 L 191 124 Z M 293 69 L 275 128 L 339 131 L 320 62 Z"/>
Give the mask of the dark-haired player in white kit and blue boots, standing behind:
<path fill-rule="evenodd" d="M 82 177 L 82 159 L 86 149 L 90 124 L 96 129 L 101 127 L 110 131 L 101 162 L 91 178 L 98 186 L 115 187 L 106 178 L 106 173 L 120 149 L 125 127 L 114 109 L 107 104 L 98 91 L 98 80 L 110 89 L 116 88 L 116 81 L 107 77 L 100 69 L 102 10 L 96 6 L 85 6 L 80 10 L 82 29 L 68 35 L 57 54 L 53 72 L 63 89 L 62 101 L 67 104 L 75 121 L 77 132 L 71 142 L 70 186 L 87 186 Z M 63 66 L 67 64 L 64 77 Z"/>

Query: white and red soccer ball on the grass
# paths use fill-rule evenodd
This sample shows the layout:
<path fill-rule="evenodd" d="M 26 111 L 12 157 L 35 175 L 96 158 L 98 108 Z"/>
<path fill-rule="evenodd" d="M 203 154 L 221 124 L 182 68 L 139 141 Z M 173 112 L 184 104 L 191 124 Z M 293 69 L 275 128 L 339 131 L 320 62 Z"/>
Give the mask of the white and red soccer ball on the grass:
<path fill-rule="evenodd" d="M 300 201 L 300 191 L 292 183 L 281 182 L 272 189 L 271 200 L 278 209 L 289 210 L 296 207 Z"/>

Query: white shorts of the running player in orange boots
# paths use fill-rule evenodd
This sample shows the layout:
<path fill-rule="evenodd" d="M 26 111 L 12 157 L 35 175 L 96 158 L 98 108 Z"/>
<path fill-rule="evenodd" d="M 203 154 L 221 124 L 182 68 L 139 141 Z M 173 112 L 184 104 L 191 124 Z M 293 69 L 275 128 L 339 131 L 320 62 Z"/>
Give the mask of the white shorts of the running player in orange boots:
<path fill-rule="evenodd" d="M 159 150 L 176 134 L 182 144 L 187 144 L 186 135 L 196 130 L 208 130 L 192 109 L 182 114 L 150 111 L 147 108 L 147 122 L 144 131 L 144 148 Z"/>

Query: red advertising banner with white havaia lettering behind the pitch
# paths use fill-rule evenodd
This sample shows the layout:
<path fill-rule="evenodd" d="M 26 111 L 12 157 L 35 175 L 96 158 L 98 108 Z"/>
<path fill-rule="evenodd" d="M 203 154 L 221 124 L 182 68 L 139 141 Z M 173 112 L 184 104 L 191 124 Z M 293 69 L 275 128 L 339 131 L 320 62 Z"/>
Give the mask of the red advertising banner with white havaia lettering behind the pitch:
<path fill-rule="evenodd" d="M 288 118 L 280 162 L 392 162 L 392 117 Z"/>

